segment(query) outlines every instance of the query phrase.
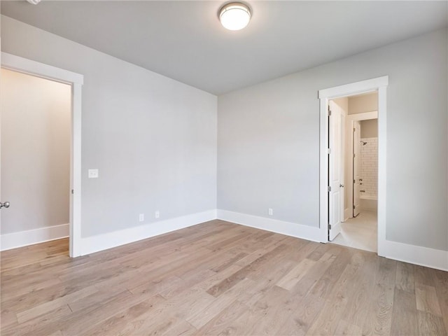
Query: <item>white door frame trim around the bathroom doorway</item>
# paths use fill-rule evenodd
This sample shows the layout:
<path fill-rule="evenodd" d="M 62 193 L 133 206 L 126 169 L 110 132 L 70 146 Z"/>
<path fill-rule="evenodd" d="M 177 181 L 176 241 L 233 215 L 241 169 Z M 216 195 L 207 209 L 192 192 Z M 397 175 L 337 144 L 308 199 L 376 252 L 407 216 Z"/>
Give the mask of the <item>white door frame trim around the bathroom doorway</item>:
<path fill-rule="evenodd" d="M 321 241 L 328 242 L 328 101 L 369 91 L 378 91 L 378 255 L 386 244 L 386 90 L 388 76 L 319 90 L 320 100 L 320 211 Z"/>

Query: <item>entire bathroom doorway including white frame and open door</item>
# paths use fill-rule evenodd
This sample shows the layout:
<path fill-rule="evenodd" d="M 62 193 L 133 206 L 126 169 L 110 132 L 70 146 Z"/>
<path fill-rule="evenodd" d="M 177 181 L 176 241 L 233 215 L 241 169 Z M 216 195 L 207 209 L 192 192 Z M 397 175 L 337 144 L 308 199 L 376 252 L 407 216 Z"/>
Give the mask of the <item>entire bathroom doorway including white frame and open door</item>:
<path fill-rule="evenodd" d="M 345 227 L 353 228 L 357 225 L 356 229 L 365 227 L 368 233 L 353 232 L 349 242 L 345 241 L 345 245 L 377 251 L 379 255 L 384 255 L 386 241 L 387 85 L 388 77 L 384 76 L 319 90 L 318 95 L 321 115 L 321 241 L 328 242 L 337 239 L 341 242 L 344 236 L 349 240 L 350 238 L 342 233 L 353 230 L 346 230 Z M 349 99 L 352 103 L 351 109 L 349 109 Z M 374 102 L 374 107 L 366 106 L 366 99 Z M 359 104 L 363 101 L 364 104 Z M 356 109 L 356 103 L 358 103 L 358 109 Z M 363 111 L 359 109 L 359 106 L 363 106 Z M 375 137 L 370 137 L 372 134 L 368 133 L 371 131 L 369 127 L 374 127 L 375 120 L 377 120 L 376 148 L 374 148 L 376 141 L 370 139 Z M 364 130 L 367 133 L 363 138 L 361 127 L 365 121 Z M 372 125 L 368 125 L 369 123 Z M 359 135 L 356 134 L 356 129 Z M 353 160 L 353 154 L 356 158 L 356 152 L 359 152 L 358 158 L 361 158 L 361 151 L 366 152 L 367 144 L 369 144 L 366 139 L 370 141 L 369 149 L 373 148 L 377 151 L 377 165 L 374 165 L 374 162 L 365 161 L 367 165 L 372 163 L 373 167 L 365 167 L 371 171 L 371 174 L 364 179 L 360 176 L 364 174 L 362 160 Z M 374 183 L 375 175 L 377 176 L 376 184 Z M 374 190 L 375 188 L 377 190 Z M 361 190 L 364 191 L 361 192 Z M 374 195 L 375 191 L 377 191 L 376 195 Z M 359 224 L 360 221 L 363 223 Z M 372 230 L 375 223 L 377 223 L 376 234 Z M 360 236 L 365 236 L 365 241 L 369 244 L 360 245 L 358 239 Z M 363 244 L 362 241 L 361 244 Z"/>

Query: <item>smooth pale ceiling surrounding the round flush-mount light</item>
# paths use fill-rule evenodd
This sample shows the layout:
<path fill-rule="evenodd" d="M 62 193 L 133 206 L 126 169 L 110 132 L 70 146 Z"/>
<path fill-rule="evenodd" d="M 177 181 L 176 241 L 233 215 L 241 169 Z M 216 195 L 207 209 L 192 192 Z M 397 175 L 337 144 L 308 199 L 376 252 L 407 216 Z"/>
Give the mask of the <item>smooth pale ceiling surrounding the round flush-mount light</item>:
<path fill-rule="evenodd" d="M 448 25 L 448 1 L 1 1 L 1 13 L 213 94 L 277 78 Z"/>

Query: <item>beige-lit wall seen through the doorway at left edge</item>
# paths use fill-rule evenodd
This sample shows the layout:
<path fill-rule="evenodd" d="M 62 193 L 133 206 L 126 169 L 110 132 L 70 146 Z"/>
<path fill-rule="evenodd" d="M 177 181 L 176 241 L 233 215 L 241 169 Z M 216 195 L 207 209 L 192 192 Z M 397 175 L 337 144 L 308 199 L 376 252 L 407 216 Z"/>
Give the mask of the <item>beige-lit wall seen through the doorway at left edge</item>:
<path fill-rule="evenodd" d="M 1 234 L 69 223 L 71 87 L 1 69 Z"/>

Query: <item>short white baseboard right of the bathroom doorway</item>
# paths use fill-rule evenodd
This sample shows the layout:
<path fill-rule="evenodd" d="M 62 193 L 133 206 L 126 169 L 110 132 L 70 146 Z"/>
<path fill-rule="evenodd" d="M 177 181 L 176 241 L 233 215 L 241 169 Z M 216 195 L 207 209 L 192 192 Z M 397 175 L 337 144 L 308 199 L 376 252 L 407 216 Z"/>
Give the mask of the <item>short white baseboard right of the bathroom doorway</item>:
<path fill-rule="evenodd" d="M 448 271 L 448 251 L 386 240 L 381 244 L 381 257 Z"/>

